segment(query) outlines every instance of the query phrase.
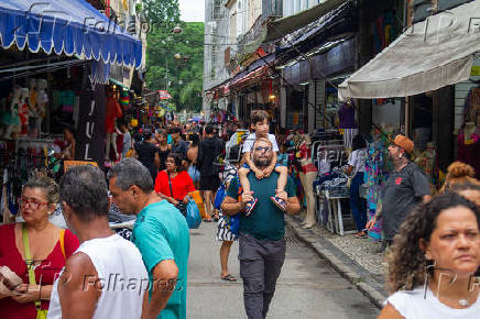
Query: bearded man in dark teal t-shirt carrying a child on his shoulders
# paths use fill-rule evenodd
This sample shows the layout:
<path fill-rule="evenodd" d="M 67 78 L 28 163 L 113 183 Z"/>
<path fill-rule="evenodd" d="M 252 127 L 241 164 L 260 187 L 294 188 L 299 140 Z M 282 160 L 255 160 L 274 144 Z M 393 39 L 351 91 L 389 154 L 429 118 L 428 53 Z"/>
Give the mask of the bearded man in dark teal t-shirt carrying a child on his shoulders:
<path fill-rule="evenodd" d="M 259 169 L 269 167 L 273 160 L 273 150 L 268 139 L 257 139 L 252 160 Z M 233 179 L 221 209 L 227 215 L 237 215 L 253 199 L 252 194 L 258 199 L 251 215 L 242 215 L 240 219 L 239 261 L 247 316 L 249 319 L 263 319 L 269 311 L 276 279 L 285 261 L 285 218 L 284 212 L 270 199 L 275 195 L 279 174 L 273 172 L 270 177 L 257 179 L 255 174 L 250 172 L 247 177 L 252 191 L 243 193 L 239 201 L 240 185 Z M 282 199 L 287 202 L 286 213 L 297 215 L 301 206 L 295 197 L 294 183 L 290 178 L 285 191 L 287 195 Z"/>

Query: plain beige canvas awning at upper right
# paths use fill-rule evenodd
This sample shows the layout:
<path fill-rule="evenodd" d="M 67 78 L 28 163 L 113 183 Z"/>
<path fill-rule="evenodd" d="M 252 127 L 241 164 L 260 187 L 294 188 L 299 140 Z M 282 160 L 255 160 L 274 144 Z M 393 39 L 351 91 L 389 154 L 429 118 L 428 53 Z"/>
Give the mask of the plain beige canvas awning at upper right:
<path fill-rule="evenodd" d="M 467 80 L 480 51 L 479 13 L 476 0 L 415 23 L 346 79 L 339 98 L 414 96 Z"/>

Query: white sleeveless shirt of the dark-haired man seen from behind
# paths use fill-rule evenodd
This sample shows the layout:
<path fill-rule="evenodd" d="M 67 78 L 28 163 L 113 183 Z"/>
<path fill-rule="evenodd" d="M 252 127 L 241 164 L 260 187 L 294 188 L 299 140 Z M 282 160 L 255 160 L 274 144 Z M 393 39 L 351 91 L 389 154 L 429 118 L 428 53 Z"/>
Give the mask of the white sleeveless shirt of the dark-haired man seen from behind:
<path fill-rule="evenodd" d="M 141 318 L 149 274 L 135 245 L 113 234 L 86 241 L 77 252 L 90 257 L 102 284 L 94 319 Z M 57 284 L 58 280 L 55 280 L 47 319 L 62 318 Z M 85 286 L 92 287 L 94 284 L 94 280 L 89 283 L 88 278 L 85 279 Z"/>

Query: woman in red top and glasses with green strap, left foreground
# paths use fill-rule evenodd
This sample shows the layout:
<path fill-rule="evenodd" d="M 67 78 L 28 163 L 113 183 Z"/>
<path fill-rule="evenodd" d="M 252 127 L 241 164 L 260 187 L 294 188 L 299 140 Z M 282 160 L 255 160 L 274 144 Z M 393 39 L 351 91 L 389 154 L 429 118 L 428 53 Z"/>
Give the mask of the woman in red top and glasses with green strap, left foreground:
<path fill-rule="evenodd" d="M 56 202 L 55 182 L 33 177 L 20 198 L 24 222 L 0 227 L 0 318 L 36 318 L 48 309 L 53 283 L 79 244 L 50 222 Z"/>

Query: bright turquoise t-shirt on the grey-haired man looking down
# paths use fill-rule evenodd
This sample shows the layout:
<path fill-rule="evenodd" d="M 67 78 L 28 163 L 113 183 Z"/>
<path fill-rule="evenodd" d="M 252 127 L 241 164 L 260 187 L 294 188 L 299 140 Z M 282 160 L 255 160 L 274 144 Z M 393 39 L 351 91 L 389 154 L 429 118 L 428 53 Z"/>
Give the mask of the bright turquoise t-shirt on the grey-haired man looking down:
<path fill-rule="evenodd" d="M 175 261 L 178 267 L 178 280 L 175 292 L 159 318 L 186 318 L 190 241 L 185 217 L 166 200 L 151 204 L 137 216 L 132 242 L 142 254 L 150 280 L 153 279 L 153 268 L 160 262 Z"/>

